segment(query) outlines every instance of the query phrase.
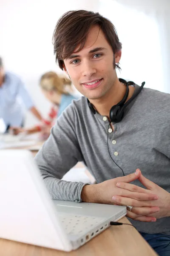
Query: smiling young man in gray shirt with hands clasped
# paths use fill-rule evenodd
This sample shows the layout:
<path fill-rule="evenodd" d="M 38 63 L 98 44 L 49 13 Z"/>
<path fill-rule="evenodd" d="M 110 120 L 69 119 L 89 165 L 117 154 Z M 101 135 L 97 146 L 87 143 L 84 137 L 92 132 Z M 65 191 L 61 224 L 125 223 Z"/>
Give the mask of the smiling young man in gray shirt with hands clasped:
<path fill-rule="evenodd" d="M 51 197 L 131 206 L 132 224 L 159 255 L 170 255 L 170 95 L 143 88 L 109 125 L 127 90 L 116 75 L 122 44 L 113 24 L 99 13 L 67 12 L 53 41 L 59 67 L 84 97 L 62 113 L 35 158 Z M 139 86 L 128 88 L 126 102 Z M 60 180 L 78 161 L 97 184 Z"/>

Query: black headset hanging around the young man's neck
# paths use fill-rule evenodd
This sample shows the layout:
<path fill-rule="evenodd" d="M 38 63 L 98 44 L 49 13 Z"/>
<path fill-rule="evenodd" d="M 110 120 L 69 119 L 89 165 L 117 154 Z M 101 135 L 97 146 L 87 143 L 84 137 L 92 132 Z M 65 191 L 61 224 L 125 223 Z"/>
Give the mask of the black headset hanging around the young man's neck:
<path fill-rule="evenodd" d="M 124 111 L 125 108 L 133 101 L 133 99 L 136 98 L 136 96 L 138 96 L 138 94 L 141 92 L 142 88 L 144 87 L 145 82 L 142 82 L 141 87 L 139 88 L 139 90 L 136 91 L 136 93 L 133 93 L 133 96 L 126 102 L 128 94 L 129 94 L 129 85 L 135 85 L 135 83 L 133 81 L 126 81 L 125 79 L 119 78 L 119 81 L 122 84 L 126 84 L 126 93 L 125 96 L 123 97 L 123 99 L 117 103 L 116 105 L 114 105 L 113 107 L 111 107 L 110 113 L 109 113 L 109 117 L 110 117 L 110 123 L 111 122 L 120 122 L 123 119 L 124 116 Z M 95 114 L 96 110 L 94 108 L 94 105 L 91 104 L 91 102 L 87 99 L 88 101 L 88 106 L 91 109 L 91 111 Z M 125 103 L 126 102 L 126 103 Z"/>

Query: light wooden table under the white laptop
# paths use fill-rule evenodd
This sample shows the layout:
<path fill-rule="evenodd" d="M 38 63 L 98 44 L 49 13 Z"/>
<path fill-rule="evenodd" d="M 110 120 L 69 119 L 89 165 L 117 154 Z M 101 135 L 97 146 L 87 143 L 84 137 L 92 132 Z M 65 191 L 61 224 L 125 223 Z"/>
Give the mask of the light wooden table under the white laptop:
<path fill-rule="evenodd" d="M 29 148 L 28 148 L 29 149 Z M 37 151 L 33 151 L 35 155 Z M 77 166 L 79 166 L 78 163 Z M 129 223 L 126 217 L 120 222 Z M 59 250 L 0 239 L 0 256 L 156 256 L 157 254 L 129 225 L 112 226 L 77 250 Z"/>

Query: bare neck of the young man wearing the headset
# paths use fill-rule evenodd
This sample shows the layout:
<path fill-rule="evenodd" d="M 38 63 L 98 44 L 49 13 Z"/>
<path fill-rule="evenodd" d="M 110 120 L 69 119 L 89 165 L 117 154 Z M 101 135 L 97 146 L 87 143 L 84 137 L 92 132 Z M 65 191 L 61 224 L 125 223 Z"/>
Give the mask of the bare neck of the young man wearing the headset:
<path fill-rule="evenodd" d="M 126 102 L 131 98 L 134 90 L 134 87 L 129 86 L 129 94 Z M 119 82 L 119 79 L 117 79 L 111 90 L 105 96 L 103 96 L 101 99 L 90 100 L 90 102 L 94 105 L 96 111 L 100 115 L 109 117 L 111 107 L 123 99 L 125 92 L 126 84 L 122 84 Z"/>

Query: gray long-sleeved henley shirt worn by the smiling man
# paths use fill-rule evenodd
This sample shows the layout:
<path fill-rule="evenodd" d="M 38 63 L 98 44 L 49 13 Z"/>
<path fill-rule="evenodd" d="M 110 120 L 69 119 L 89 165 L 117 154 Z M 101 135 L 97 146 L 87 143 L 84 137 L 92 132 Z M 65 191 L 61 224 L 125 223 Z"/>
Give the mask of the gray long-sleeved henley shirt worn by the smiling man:
<path fill-rule="evenodd" d="M 147 179 L 170 192 L 170 94 L 143 88 L 127 106 L 124 119 L 113 123 L 111 133 L 103 117 L 92 113 L 82 97 L 57 119 L 35 157 L 51 197 L 81 202 L 85 184 L 60 180 L 78 161 L 84 162 L 97 183 L 123 175 L 109 156 L 107 134 L 111 156 L 125 175 L 139 168 Z M 142 187 L 139 180 L 133 184 Z M 130 221 L 141 232 L 170 232 L 170 217 L 152 223 Z"/>

